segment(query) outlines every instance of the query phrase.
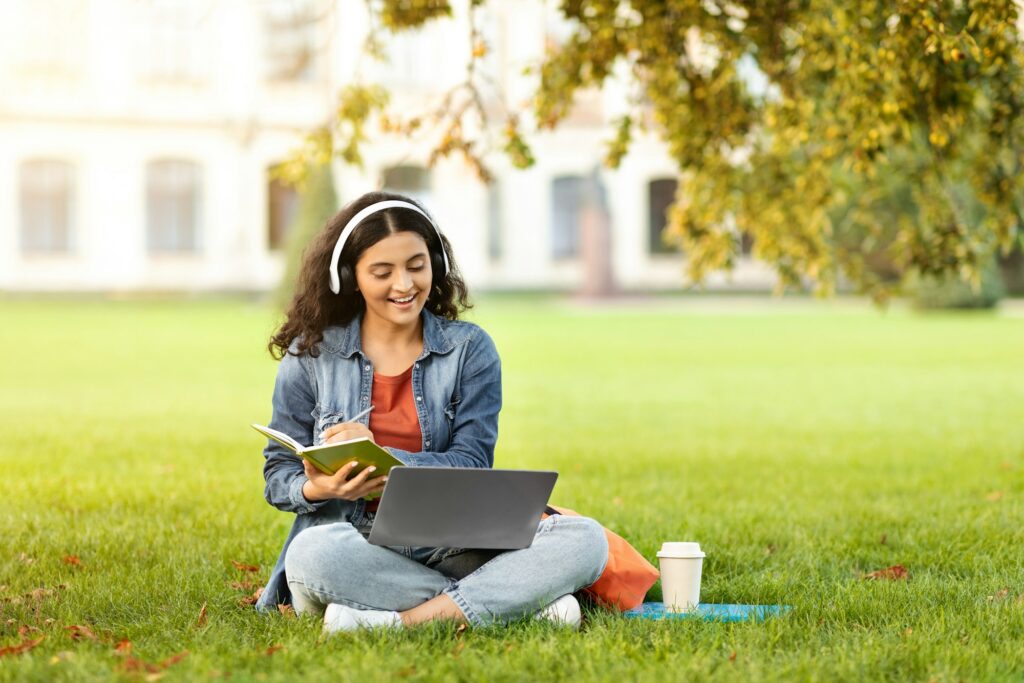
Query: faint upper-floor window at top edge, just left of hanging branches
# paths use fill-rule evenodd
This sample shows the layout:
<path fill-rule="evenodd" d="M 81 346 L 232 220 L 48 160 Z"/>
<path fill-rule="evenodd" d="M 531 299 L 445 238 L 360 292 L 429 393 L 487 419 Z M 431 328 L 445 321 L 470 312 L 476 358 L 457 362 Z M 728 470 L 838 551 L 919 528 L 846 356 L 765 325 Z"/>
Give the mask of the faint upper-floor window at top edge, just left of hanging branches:
<path fill-rule="evenodd" d="M 312 81 L 321 75 L 316 28 L 327 11 L 316 0 L 271 0 L 263 6 L 267 80 Z"/>

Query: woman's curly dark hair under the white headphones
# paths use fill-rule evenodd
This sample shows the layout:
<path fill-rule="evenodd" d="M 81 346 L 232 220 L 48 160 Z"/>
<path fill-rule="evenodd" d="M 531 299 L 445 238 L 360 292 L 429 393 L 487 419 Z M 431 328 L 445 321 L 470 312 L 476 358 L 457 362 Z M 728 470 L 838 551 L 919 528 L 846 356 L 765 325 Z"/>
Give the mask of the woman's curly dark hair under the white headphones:
<path fill-rule="evenodd" d="M 356 213 L 377 202 L 400 200 L 423 208 L 418 202 L 392 193 L 367 193 L 342 208 L 327 221 L 324 229 L 313 238 L 302 255 L 302 268 L 296 283 L 295 296 L 288 306 L 285 323 L 270 337 L 267 350 L 274 358 L 281 359 L 286 353 L 311 356 L 318 355 L 316 344 L 324 339 L 324 330 L 332 325 L 346 325 L 366 310 L 367 302 L 359 292 L 346 296 L 344 290 L 335 294 L 330 286 L 331 255 L 342 228 Z M 424 212 L 426 209 L 424 209 Z M 359 223 L 341 250 L 338 269 L 347 265 L 349 272 L 355 272 L 355 264 L 362 253 L 384 238 L 394 232 L 408 230 L 416 232 L 427 243 L 431 254 L 444 249 L 449 256 L 449 272 L 441 273 L 434 268 L 434 280 L 425 304 L 427 310 L 450 321 L 459 318 L 459 313 L 472 308 L 469 292 L 462 280 L 459 266 L 452 253 L 452 245 L 443 234 L 438 236 L 430 222 L 411 209 L 391 208 L 378 211 Z M 438 241 L 439 237 L 439 241 Z M 443 243 L 443 247 L 442 247 Z M 290 351 L 292 342 L 299 340 L 295 351 Z"/>

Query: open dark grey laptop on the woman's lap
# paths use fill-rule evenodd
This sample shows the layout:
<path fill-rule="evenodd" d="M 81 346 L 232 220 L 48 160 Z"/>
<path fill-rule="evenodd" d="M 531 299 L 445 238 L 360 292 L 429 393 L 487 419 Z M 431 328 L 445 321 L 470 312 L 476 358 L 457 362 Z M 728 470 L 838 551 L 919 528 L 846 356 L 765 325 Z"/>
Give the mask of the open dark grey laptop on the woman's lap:
<path fill-rule="evenodd" d="M 370 529 L 376 546 L 528 548 L 558 472 L 393 467 Z"/>

